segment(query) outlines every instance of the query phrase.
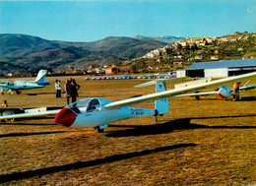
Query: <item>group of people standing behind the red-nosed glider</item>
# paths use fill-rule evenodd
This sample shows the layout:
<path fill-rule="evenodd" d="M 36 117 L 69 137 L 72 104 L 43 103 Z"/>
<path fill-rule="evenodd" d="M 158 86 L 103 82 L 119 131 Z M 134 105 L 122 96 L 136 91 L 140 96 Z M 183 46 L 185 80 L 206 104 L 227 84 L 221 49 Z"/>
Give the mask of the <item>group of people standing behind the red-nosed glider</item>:
<path fill-rule="evenodd" d="M 70 78 L 69 80 L 66 80 L 66 83 L 64 85 L 64 95 L 67 97 L 67 103 L 69 104 L 70 98 L 72 102 L 75 102 L 77 100 L 78 90 L 80 89 L 80 86 L 76 82 L 75 79 Z M 56 90 L 56 98 L 61 97 L 61 81 L 56 80 L 55 81 L 55 90 Z"/>

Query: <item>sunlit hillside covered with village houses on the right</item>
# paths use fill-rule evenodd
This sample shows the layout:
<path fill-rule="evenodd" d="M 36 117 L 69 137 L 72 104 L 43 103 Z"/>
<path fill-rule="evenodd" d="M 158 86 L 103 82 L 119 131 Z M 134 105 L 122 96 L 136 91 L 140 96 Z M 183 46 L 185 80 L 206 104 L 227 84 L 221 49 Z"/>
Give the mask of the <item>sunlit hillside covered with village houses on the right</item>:
<path fill-rule="evenodd" d="M 220 37 L 196 37 L 178 40 L 123 65 L 148 72 L 185 69 L 194 62 L 256 57 L 256 33 L 235 32 Z M 143 70 L 144 68 L 144 70 Z"/>

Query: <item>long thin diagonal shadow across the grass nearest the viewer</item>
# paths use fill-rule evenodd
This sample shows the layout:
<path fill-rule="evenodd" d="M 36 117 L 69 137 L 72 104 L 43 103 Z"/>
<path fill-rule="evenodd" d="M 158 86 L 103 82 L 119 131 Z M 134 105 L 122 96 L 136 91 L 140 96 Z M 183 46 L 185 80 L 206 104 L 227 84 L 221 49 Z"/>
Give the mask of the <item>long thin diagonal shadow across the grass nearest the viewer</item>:
<path fill-rule="evenodd" d="M 179 145 L 175 145 L 175 146 L 166 146 L 166 147 L 156 148 L 154 150 L 145 150 L 142 152 L 134 152 L 134 153 L 128 153 L 128 154 L 121 154 L 121 155 L 110 155 L 110 156 L 105 156 L 102 158 L 97 158 L 95 160 L 78 161 L 78 162 L 74 162 L 74 163 L 70 163 L 70 164 L 52 166 L 52 167 L 41 168 L 41 169 L 36 169 L 36 170 L 29 170 L 29 171 L 24 171 L 24 172 L 14 172 L 11 174 L 0 175 L 0 183 L 5 183 L 8 181 L 19 180 L 19 179 L 24 179 L 24 178 L 31 178 L 34 176 L 43 176 L 45 174 L 50 174 L 50 173 L 55 173 L 55 172 L 60 172 L 60 171 L 68 171 L 68 170 L 72 170 L 72 169 L 96 166 L 99 164 L 111 163 L 111 162 L 115 162 L 115 161 L 119 161 L 119 160 L 129 159 L 129 158 L 136 157 L 136 156 L 152 155 L 152 154 L 157 154 L 160 152 L 171 151 L 174 149 L 188 148 L 188 147 L 195 147 L 195 146 L 196 146 L 196 144 L 179 144 Z"/>

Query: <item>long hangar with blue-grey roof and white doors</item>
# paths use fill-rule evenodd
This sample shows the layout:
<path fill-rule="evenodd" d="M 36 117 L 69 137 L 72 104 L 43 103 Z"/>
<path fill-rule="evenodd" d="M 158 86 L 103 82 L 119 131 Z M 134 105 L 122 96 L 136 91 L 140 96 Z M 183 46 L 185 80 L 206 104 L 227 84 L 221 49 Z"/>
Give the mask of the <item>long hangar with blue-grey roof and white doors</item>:
<path fill-rule="evenodd" d="M 177 71 L 178 77 L 228 77 L 256 71 L 256 58 L 193 63 Z"/>

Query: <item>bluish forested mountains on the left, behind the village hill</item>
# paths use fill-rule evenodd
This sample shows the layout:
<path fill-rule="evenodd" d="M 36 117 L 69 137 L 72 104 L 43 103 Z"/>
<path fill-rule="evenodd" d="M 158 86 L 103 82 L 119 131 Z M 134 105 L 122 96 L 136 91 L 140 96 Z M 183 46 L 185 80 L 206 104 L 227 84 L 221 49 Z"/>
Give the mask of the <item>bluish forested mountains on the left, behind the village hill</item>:
<path fill-rule="evenodd" d="M 117 64 L 163 47 L 157 39 L 109 36 L 94 42 L 46 40 L 26 34 L 0 34 L 0 74 L 65 71 L 69 66 Z"/>

